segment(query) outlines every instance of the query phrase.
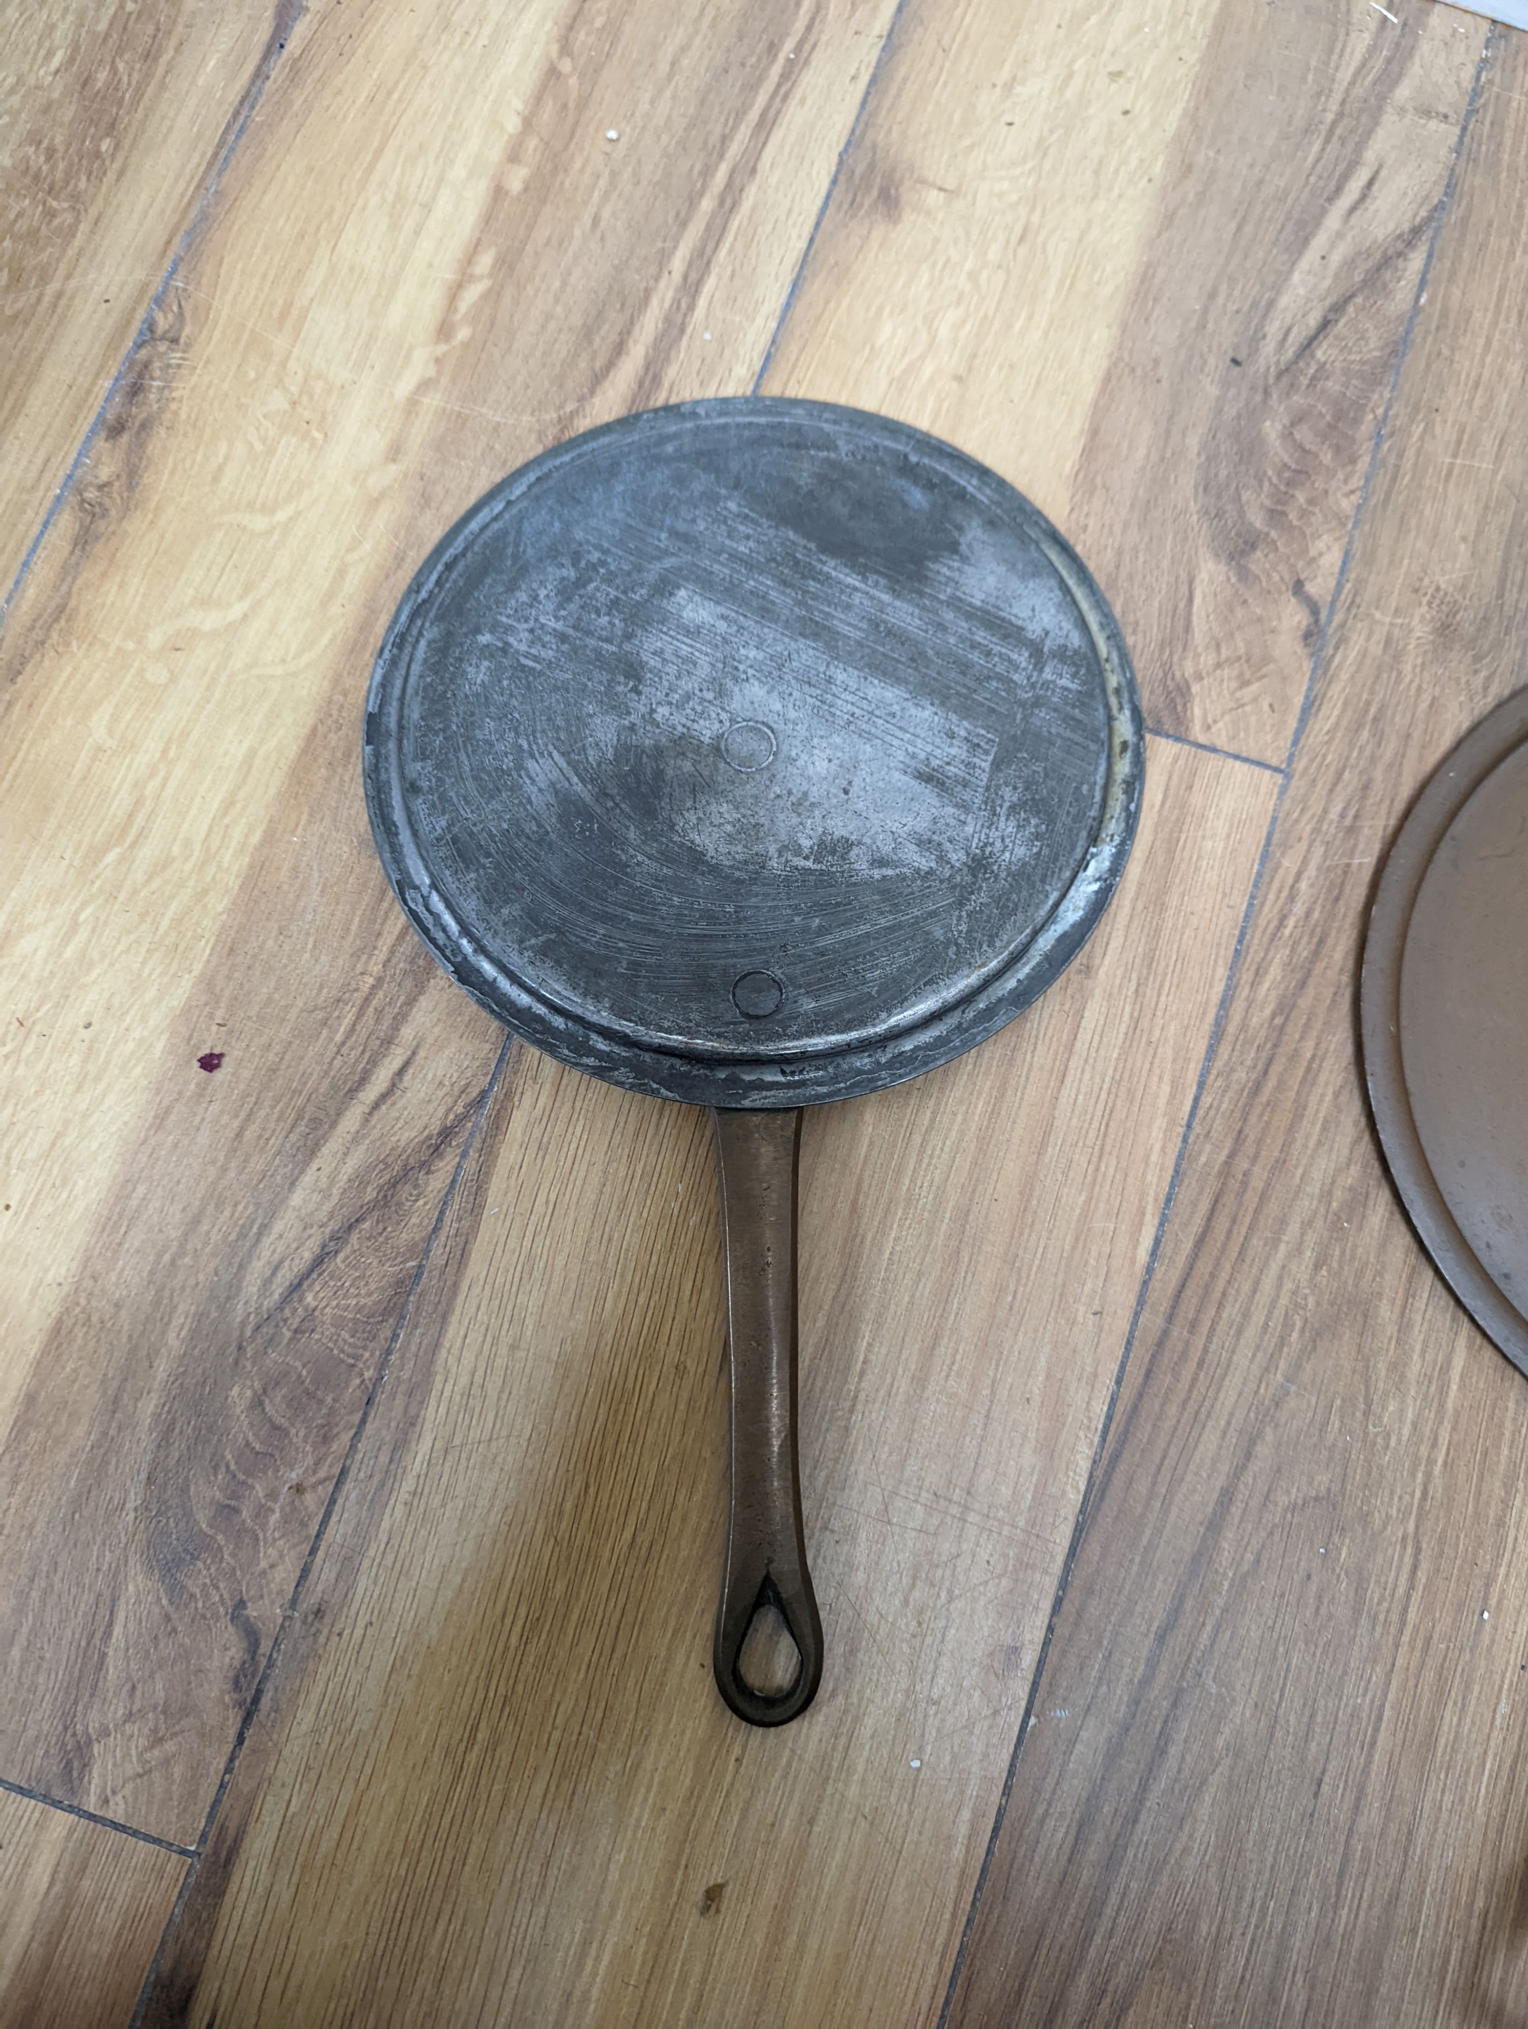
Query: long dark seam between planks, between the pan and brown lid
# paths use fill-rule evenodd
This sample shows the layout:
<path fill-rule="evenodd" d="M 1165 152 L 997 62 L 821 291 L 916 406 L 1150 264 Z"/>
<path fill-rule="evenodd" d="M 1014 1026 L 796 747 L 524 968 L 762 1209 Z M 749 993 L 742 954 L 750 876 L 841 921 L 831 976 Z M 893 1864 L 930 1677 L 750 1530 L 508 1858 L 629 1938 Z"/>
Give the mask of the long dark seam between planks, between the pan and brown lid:
<path fill-rule="evenodd" d="M 1082 1550 L 1082 1540 L 1084 1540 L 1084 1536 L 1088 1532 L 1088 1522 L 1090 1522 L 1090 1516 L 1092 1516 L 1092 1510 L 1094 1510 L 1094 1499 L 1096 1499 L 1096 1493 L 1098 1493 L 1098 1481 L 1100 1481 L 1100 1473 L 1102 1473 L 1102 1465 L 1104 1465 L 1104 1451 L 1108 1447 L 1110 1428 L 1114 1424 L 1114 1410 L 1116 1410 L 1120 1394 L 1124 1390 L 1124 1374 L 1126 1374 L 1126 1368 L 1130 1366 L 1130 1355 L 1134 1351 L 1136 1333 L 1140 1329 L 1140 1317 L 1144 1313 L 1147 1297 L 1151 1295 L 1151 1284 L 1153 1284 L 1153 1278 L 1157 1274 L 1157 1260 L 1159 1260 L 1161 1250 L 1163 1250 L 1163 1240 L 1167 1236 L 1169 1219 L 1173 1217 L 1173 1203 L 1177 1199 L 1179 1179 L 1183 1177 L 1183 1163 L 1187 1159 L 1189 1140 L 1193 1136 L 1193 1128 L 1195 1128 L 1195 1122 L 1199 1118 L 1199 1102 L 1203 1100 L 1205 1086 L 1209 1081 L 1209 1069 L 1211 1069 L 1211 1065 L 1216 1061 L 1216 1051 L 1220 1049 L 1220 1037 L 1222 1037 L 1222 1031 L 1226 1027 L 1226 1019 L 1230 1014 L 1230 1004 L 1232 1004 L 1232 998 L 1234 998 L 1234 992 L 1236 992 L 1236 978 L 1238 978 L 1240 968 L 1242 968 L 1242 952 L 1246 950 L 1248 931 L 1252 929 L 1252 919 L 1256 915 L 1258 901 L 1260 901 L 1260 895 L 1262 895 L 1262 877 L 1264 877 L 1264 872 L 1268 868 L 1268 858 L 1272 856 L 1274 832 L 1278 830 L 1278 814 L 1284 808 L 1284 795 L 1289 791 L 1289 783 L 1291 783 L 1291 775 L 1293 775 L 1293 767 L 1295 767 L 1295 755 L 1299 753 L 1301 741 L 1305 737 L 1305 728 L 1311 722 L 1311 712 L 1315 708 L 1317 682 L 1319 682 L 1319 678 L 1323 674 L 1325 653 L 1327 653 L 1327 645 L 1331 641 L 1333 617 L 1337 613 L 1337 603 L 1339 603 L 1343 586 L 1347 582 L 1347 570 L 1349 570 L 1349 564 L 1351 564 L 1353 546 L 1358 542 L 1358 530 L 1360 530 L 1360 523 L 1364 519 L 1364 509 L 1368 507 L 1370 491 L 1374 487 L 1374 479 L 1376 479 L 1376 473 L 1378 473 L 1378 467 L 1380 467 L 1380 454 L 1382 454 L 1382 448 L 1384 448 L 1384 438 L 1386 438 L 1386 432 L 1388 432 L 1388 426 L 1390 426 L 1390 416 L 1392 416 L 1394 406 L 1396 406 L 1396 394 L 1400 390 L 1400 375 L 1402 375 L 1402 369 L 1406 365 L 1406 357 L 1408 357 L 1410 347 L 1412 347 L 1412 337 L 1416 333 L 1416 319 L 1420 314 L 1422 296 L 1427 294 L 1427 280 L 1429 280 L 1429 276 L 1433 272 L 1433 258 L 1437 254 L 1439 239 L 1443 235 L 1443 221 L 1447 219 L 1447 215 L 1449 215 L 1449 211 L 1453 207 L 1453 195 L 1455 195 L 1455 187 L 1457 187 L 1457 181 L 1459 181 L 1459 162 L 1461 162 L 1463 152 L 1465 152 L 1465 142 L 1469 140 L 1469 130 L 1475 124 L 1475 114 L 1479 112 L 1479 103 L 1481 103 L 1483 87 L 1485 87 L 1485 71 L 1487 71 L 1487 65 L 1489 65 L 1489 61 L 1491 61 L 1491 57 L 1496 53 L 1498 34 L 1500 34 L 1498 26 L 1491 24 L 1491 28 L 1489 28 L 1489 32 L 1485 37 L 1485 43 L 1481 47 L 1479 61 L 1475 65 L 1475 77 L 1473 77 L 1471 87 L 1469 87 L 1469 99 L 1465 103 L 1463 120 L 1459 122 L 1459 134 L 1455 136 L 1453 156 L 1449 160 L 1449 174 L 1447 174 L 1445 185 L 1443 185 L 1443 195 L 1439 197 L 1439 203 L 1437 203 L 1435 213 L 1433 213 L 1433 229 L 1429 233 L 1427 254 L 1422 256 L 1422 272 L 1416 278 L 1416 292 L 1412 296 L 1412 306 L 1410 306 L 1410 312 L 1406 317 L 1406 325 L 1404 325 L 1404 329 L 1400 333 L 1400 347 L 1396 349 L 1396 363 L 1394 363 L 1394 369 L 1390 373 L 1390 390 L 1386 394 L 1384 410 L 1380 414 L 1380 422 L 1378 422 L 1376 432 L 1374 432 L 1374 442 L 1370 446 L 1370 459 L 1368 459 L 1368 467 L 1364 471 L 1364 485 L 1360 487 L 1358 503 L 1353 507 L 1353 517 L 1347 523 L 1347 540 L 1343 542 L 1343 554 L 1341 554 L 1341 562 L 1337 566 L 1337 580 L 1335 580 L 1335 584 L 1331 588 L 1331 601 L 1327 605 L 1327 613 L 1325 613 L 1325 619 L 1321 623 L 1321 633 L 1319 633 L 1315 649 L 1311 653 L 1311 672 L 1309 672 L 1309 676 L 1305 680 L 1305 694 L 1301 698 L 1301 708 L 1299 708 L 1299 714 L 1295 718 L 1295 730 L 1293 730 L 1291 741 L 1289 741 L 1289 753 L 1284 755 L 1282 769 L 1276 769 L 1276 773 L 1280 775 L 1278 793 L 1274 795 L 1274 808 L 1268 814 L 1268 830 L 1262 836 L 1262 852 L 1258 854 L 1258 864 L 1256 864 L 1256 870 L 1252 874 L 1252 887 L 1248 891 L 1246 909 L 1242 911 L 1242 923 L 1240 923 L 1240 929 L 1236 931 L 1236 948 L 1232 950 L 1232 962 L 1226 968 L 1226 984 L 1222 986 L 1220 1004 L 1216 1006 L 1216 1019 L 1213 1019 L 1213 1023 L 1209 1027 L 1209 1041 L 1205 1043 L 1203 1061 L 1199 1065 L 1199 1077 L 1197 1077 L 1195 1088 L 1193 1088 L 1193 1100 L 1189 1102 L 1189 1114 L 1187 1114 L 1187 1120 L 1183 1122 L 1183 1134 L 1179 1138 L 1177 1157 L 1173 1161 L 1173 1175 L 1167 1181 L 1167 1195 L 1163 1199 L 1163 1209 L 1161 1209 L 1161 1215 L 1157 1219 L 1157 1232 L 1155 1232 L 1153 1242 L 1151 1242 L 1151 1254 L 1147 1256 L 1147 1268 L 1144 1268 L 1144 1272 L 1140 1276 L 1140 1288 L 1136 1290 L 1134 1309 L 1130 1313 L 1130 1325 L 1128 1325 L 1126 1335 L 1124 1335 L 1124 1349 L 1120 1353 L 1120 1363 L 1118 1363 L 1118 1368 L 1114 1372 L 1114 1384 L 1112 1384 L 1112 1388 L 1108 1392 L 1108 1402 L 1104 1404 L 1104 1418 L 1102 1418 L 1102 1424 L 1100 1424 L 1100 1430 L 1098 1430 L 1098 1443 L 1094 1445 L 1094 1457 L 1092 1457 L 1090 1467 L 1088 1467 L 1088 1479 L 1086 1479 L 1084 1489 L 1082 1489 L 1082 1501 L 1078 1503 L 1078 1518 L 1075 1518 L 1075 1522 L 1071 1526 L 1071 1540 L 1067 1542 L 1067 1552 L 1065 1552 L 1065 1558 L 1061 1562 L 1061 1575 L 1057 1579 L 1055 1595 L 1051 1599 L 1051 1613 L 1049 1613 L 1049 1619 L 1045 1623 L 1045 1637 L 1041 1639 L 1039 1658 L 1035 1662 L 1035 1676 L 1031 1678 L 1031 1684 L 1029 1684 L 1029 1698 L 1025 1700 L 1025 1712 L 1023 1712 L 1023 1719 L 1019 1721 L 1019 1737 L 1015 1739 L 1015 1743 L 1013 1743 L 1013 1755 L 1009 1757 L 1009 1771 L 1006 1771 L 1006 1775 L 1002 1779 L 1002 1790 L 998 1794 L 998 1806 L 996 1806 L 996 1814 L 992 1818 L 992 1830 L 990 1830 L 988 1840 L 986 1840 L 986 1852 L 982 1855 L 982 1865 L 980 1865 L 980 1871 L 976 1875 L 976 1887 L 972 1889 L 972 1899 L 970 1899 L 970 1907 L 966 1911 L 966 1923 L 964 1923 L 962 1934 L 960 1934 L 960 1946 L 956 1950 L 956 1960 L 954 1960 L 954 1966 L 950 1968 L 950 1984 L 948 1984 L 946 1995 L 944 1995 L 944 2007 L 940 2009 L 937 2029 L 950 2029 L 950 2015 L 952 2015 L 952 2009 L 956 2005 L 956 1990 L 960 1986 L 960 1974 L 966 1970 L 966 1954 L 970 1952 L 970 1942 L 972 1942 L 972 1936 L 974 1936 L 974 1930 L 976 1930 L 976 1917 L 980 1913 L 982 1897 L 986 1893 L 986 1881 L 988 1881 L 988 1875 L 992 1873 L 992 1861 L 996 1857 L 998 1838 L 1002 1834 L 1002 1820 L 1009 1814 L 1009 1800 L 1013 1798 L 1013 1788 L 1015 1788 L 1015 1781 L 1017 1781 L 1017 1775 L 1019 1775 L 1019 1759 L 1021 1759 L 1021 1755 L 1025 1751 L 1025 1737 L 1029 1735 L 1029 1723 L 1031 1723 L 1031 1719 L 1035 1715 L 1035 1706 L 1039 1704 L 1041 1678 L 1045 1676 L 1045 1664 L 1049 1662 L 1049 1656 L 1051 1656 L 1051 1641 L 1055 1637 L 1057 1621 L 1061 1617 L 1061 1607 L 1065 1605 L 1067 1587 L 1071 1583 L 1071 1570 L 1073 1570 L 1073 1566 L 1078 1562 L 1078 1554 Z M 1193 743 L 1189 743 L 1189 745 L 1193 745 Z M 1268 767 L 1266 761 L 1258 763 L 1258 765 L 1260 767 Z"/>

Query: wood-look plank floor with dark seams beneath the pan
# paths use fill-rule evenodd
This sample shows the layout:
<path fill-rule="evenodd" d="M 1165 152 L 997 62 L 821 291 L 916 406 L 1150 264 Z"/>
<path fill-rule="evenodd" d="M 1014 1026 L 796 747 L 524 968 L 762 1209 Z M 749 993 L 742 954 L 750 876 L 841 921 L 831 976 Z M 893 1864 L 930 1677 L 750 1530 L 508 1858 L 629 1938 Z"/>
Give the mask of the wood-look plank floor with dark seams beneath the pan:
<path fill-rule="evenodd" d="M 1528 2023 L 1528 1386 L 1353 1045 L 1528 680 L 1528 41 L 30 0 L 0 250 L 0 2029 Z M 808 1116 L 777 1733 L 706 1122 L 505 1045 L 359 793 L 450 519 L 751 388 L 1013 479 L 1151 726 L 1063 980 Z"/>

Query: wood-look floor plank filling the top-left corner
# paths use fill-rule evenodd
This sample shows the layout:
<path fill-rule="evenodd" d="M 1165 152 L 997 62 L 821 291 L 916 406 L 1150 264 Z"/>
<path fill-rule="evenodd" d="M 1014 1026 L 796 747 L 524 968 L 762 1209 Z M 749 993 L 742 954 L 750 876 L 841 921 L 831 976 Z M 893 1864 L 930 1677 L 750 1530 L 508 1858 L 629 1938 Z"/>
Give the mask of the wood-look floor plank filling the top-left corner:
<path fill-rule="evenodd" d="M 296 12 L 49 0 L 0 14 L 0 599 Z"/>

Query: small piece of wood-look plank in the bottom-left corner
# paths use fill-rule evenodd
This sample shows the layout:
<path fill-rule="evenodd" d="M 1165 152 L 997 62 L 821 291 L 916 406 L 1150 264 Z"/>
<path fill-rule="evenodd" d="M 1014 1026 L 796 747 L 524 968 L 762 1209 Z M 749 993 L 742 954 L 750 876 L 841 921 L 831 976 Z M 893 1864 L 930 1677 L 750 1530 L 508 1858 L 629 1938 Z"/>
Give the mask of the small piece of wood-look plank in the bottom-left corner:
<path fill-rule="evenodd" d="M 0 1790 L 0 2021 L 122 2029 L 185 1859 Z"/>

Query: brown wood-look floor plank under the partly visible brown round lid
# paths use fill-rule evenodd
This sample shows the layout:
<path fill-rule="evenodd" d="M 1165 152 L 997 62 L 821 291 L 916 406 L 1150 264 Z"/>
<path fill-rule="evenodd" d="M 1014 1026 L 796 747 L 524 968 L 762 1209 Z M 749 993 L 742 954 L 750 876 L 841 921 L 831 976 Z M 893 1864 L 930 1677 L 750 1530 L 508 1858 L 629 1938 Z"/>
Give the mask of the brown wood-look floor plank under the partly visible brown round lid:
<path fill-rule="evenodd" d="M 952 2021 L 1524 2021 L 1528 1390 L 1384 1175 L 1366 905 L 1528 680 L 1498 32 Z"/>

